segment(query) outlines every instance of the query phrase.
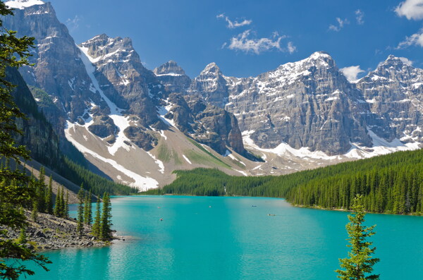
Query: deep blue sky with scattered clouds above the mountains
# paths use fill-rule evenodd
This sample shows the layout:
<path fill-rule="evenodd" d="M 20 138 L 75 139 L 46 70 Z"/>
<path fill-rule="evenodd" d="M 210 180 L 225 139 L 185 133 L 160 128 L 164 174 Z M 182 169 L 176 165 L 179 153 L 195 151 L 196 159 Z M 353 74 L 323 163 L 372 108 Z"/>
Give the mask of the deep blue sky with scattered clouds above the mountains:
<path fill-rule="evenodd" d="M 423 0 L 51 0 L 77 43 L 130 37 L 145 66 L 246 77 L 327 51 L 354 76 L 388 54 L 423 67 Z M 359 74 L 364 75 L 365 72 Z"/>

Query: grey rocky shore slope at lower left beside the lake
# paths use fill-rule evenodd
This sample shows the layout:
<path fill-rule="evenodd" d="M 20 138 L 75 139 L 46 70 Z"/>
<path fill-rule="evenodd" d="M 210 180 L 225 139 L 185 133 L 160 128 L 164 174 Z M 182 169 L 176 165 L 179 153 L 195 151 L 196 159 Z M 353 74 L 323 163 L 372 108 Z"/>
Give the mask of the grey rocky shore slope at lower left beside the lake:
<path fill-rule="evenodd" d="M 26 244 L 31 250 L 39 252 L 63 248 L 104 247 L 111 244 L 111 241 L 99 241 L 91 236 L 91 226 L 86 224 L 82 236 L 79 236 L 76 231 L 77 221 L 73 218 L 63 219 L 39 213 L 37 221 L 33 221 L 30 219 L 30 212 L 25 215 L 27 216 Z M 9 238 L 16 240 L 19 236 L 19 230 L 8 229 Z M 119 236 L 114 236 L 114 239 L 123 240 Z"/>

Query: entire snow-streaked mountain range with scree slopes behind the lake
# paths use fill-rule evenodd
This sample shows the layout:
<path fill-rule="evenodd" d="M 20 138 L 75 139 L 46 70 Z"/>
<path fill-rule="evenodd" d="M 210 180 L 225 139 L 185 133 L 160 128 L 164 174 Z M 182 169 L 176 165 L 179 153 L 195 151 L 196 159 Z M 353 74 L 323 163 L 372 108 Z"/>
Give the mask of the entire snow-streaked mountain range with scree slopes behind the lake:
<path fill-rule="evenodd" d="M 355 83 L 323 51 L 249 78 L 209 63 L 191 79 L 175 61 L 145 68 L 129 38 L 76 45 L 49 3 L 7 4 L 16 11 L 4 25 L 36 39 L 35 66 L 20 72 L 56 132 L 140 189 L 175 169 L 286 174 L 423 141 L 423 70 L 404 59 L 389 56 Z"/>

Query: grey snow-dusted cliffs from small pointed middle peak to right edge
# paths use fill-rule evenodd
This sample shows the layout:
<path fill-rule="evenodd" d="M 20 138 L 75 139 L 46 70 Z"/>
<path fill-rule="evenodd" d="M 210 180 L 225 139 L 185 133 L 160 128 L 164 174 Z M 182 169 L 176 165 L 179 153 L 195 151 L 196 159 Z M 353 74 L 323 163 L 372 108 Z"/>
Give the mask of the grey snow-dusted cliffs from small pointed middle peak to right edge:
<path fill-rule="evenodd" d="M 189 87 L 176 90 L 235 114 L 240 130 L 261 148 L 287 143 L 333 155 L 374 147 L 369 130 L 387 142 L 421 142 L 421 77 L 420 69 L 390 56 L 350 83 L 320 51 L 250 78 L 225 76 L 210 63 Z"/>

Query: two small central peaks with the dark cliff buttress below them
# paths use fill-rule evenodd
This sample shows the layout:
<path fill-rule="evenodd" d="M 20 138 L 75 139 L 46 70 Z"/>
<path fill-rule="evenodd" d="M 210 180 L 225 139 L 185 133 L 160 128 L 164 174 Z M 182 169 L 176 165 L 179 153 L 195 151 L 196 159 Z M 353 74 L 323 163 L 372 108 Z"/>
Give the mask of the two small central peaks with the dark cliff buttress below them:
<path fill-rule="evenodd" d="M 202 71 L 200 77 L 191 80 L 175 61 L 168 61 L 154 69 L 157 78 L 168 92 L 173 92 L 167 118 L 192 138 L 209 145 L 219 154 L 226 154 L 227 147 L 247 155 L 244 149 L 238 121 L 223 109 L 228 95 L 225 78 L 215 63 Z"/>

